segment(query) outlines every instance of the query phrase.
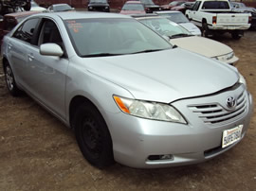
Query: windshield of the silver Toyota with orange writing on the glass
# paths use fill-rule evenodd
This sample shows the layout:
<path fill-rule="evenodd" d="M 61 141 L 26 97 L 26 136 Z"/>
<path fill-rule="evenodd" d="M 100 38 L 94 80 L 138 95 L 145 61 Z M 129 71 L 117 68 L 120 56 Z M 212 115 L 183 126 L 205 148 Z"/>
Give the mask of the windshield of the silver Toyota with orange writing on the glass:
<path fill-rule="evenodd" d="M 81 57 L 160 51 L 172 45 L 134 19 L 94 18 L 64 21 Z"/>

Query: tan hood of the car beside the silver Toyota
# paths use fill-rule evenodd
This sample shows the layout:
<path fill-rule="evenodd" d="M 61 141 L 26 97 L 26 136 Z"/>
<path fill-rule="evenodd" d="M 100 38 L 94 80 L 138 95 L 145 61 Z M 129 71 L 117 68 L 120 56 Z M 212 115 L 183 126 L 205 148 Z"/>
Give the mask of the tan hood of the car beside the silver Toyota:
<path fill-rule="evenodd" d="M 170 42 L 181 48 L 210 58 L 226 55 L 233 51 L 228 45 L 224 43 L 219 43 L 204 37 L 192 36 L 176 38 L 171 39 Z"/>

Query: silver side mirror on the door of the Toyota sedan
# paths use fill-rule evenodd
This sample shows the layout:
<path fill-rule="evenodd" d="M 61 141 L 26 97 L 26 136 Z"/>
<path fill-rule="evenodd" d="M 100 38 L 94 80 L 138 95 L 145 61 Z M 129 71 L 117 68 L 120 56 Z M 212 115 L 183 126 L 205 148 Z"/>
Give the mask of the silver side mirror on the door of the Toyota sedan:
<path fill-rule="evenodd" d="M 62 57 L 64 51 L 57 43 L 43 43 L 40 45 L 40 54 L 45 56 Z"/>

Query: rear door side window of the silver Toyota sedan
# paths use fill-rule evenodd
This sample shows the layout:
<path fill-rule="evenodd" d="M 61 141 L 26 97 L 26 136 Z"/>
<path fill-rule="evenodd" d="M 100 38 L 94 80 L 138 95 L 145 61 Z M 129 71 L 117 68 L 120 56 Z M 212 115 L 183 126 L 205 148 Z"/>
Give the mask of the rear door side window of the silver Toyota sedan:
<path fill-rule="evenodd" d="M 22 26 L 20 26 L 15 33 L 13 34 L 13 37 L 20 39 L 22 41 L 25 41 L 27 43 L 31 43 L 33 33 L 35 30 L 35 27 L 37 26 L 39 19 L 29 19 L 27 20 Z"/>

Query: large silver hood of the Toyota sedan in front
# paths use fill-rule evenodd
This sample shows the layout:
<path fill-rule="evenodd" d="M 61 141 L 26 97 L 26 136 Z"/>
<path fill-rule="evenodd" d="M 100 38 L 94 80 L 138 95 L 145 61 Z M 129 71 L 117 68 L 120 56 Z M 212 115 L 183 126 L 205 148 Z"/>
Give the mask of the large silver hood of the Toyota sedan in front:
<path fill-rule="evenodd" d="M 136 99 L 165 103 L 216 93 L 239 77 L 228 64 L 180 48 L 82 62 L 89 72 L 118 84 Z"/>

